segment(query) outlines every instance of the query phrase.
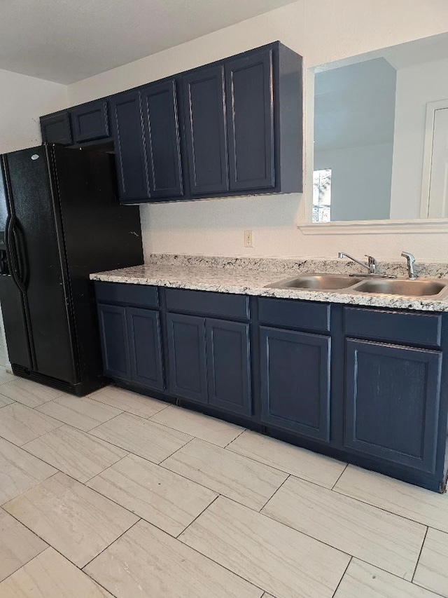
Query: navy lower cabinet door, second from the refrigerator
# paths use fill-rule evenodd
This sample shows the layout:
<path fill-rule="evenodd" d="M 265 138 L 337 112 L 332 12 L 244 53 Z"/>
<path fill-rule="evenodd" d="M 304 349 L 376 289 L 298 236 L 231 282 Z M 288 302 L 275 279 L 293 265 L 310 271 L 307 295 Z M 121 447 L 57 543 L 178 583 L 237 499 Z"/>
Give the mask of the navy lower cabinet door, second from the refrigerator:
<path fill-rule="evenodd" d="M 128 307 L 126 315 L 132 379 L 148 388 L 164 390 L 158 311 Z"/>

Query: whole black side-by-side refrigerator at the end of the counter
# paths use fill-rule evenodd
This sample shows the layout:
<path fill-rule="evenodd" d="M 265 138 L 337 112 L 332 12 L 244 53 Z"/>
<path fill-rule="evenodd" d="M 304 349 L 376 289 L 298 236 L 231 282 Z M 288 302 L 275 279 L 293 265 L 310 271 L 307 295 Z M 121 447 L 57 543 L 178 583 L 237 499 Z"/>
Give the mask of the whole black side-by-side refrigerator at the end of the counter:
<path fill-rule="evenodd" d="M 1 156 L 0 304 L 13 372 L 85 395 L 104 386 L 89 274 L 143 263 L 138 206 L 113 155 L 43 145 Z"/>

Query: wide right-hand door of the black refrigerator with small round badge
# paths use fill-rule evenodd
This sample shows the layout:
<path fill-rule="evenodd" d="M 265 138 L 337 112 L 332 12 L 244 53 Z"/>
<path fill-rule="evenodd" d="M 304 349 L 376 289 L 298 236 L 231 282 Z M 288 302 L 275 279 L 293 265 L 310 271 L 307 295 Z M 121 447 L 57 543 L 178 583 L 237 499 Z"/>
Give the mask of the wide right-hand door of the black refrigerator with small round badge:
<path fill-rule="evenodd" d="M 57 228 L 59 204 L 50 186 L 47 149 L 7 154 L 6 165 L 36 371 L 76 383 L 64 239 Z"/>

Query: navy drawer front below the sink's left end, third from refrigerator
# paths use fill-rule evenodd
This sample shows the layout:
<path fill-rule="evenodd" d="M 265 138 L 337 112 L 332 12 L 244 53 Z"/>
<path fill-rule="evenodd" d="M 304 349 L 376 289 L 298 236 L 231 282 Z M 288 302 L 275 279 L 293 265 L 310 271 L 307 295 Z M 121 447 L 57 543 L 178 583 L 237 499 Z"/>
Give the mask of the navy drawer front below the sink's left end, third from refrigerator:
<path fill-rule="evenodd" d="M 258 310 L 260 322 L 266 324 L 320 332 L 330 331 L 330 306 L 325 303 L 259 299 Z"/>

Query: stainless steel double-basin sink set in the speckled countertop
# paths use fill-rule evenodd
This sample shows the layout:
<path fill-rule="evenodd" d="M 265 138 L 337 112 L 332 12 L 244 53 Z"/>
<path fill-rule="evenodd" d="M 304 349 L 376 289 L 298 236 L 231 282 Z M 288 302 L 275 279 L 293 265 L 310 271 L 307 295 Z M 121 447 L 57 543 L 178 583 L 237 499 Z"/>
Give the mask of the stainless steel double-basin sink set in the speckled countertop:
<path fill-rule="evenodd" d="M 448 280 L 430 278 L 358 278 L 333 274 L 303 274 L 266 285 L 274 289 L 393 294 L 401 297 L 439 297 L 448 292 Z"/>

